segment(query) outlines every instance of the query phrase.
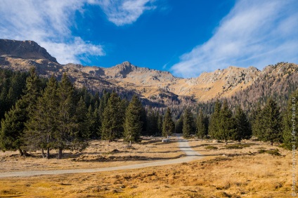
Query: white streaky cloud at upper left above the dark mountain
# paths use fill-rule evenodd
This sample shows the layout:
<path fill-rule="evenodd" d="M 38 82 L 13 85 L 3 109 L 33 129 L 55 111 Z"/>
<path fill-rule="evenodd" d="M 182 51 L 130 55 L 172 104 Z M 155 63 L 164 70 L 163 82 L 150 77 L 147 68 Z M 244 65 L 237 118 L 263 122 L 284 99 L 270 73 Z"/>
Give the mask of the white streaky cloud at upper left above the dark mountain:
<path fill-rule="evenodd" d="M 72 36 L 74 14 L 82 12 L 84 4 L 79 0 L 1 1 L 0 37 L 37 41 L 62 64 L 105 55 L 101 45 Z"/>

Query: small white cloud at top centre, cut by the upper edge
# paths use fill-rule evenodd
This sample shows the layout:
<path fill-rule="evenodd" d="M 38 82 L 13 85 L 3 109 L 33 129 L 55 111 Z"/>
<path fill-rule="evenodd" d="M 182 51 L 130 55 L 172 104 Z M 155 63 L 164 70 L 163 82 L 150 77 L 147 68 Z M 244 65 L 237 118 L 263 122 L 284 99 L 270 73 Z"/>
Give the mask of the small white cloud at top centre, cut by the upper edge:
<path fill-rule="evenodd" d="M 117 26 L 131 24 L 148 10 L 155 9 L 153 0 L 89 0 L 98 4 L 110 22 Z"/>

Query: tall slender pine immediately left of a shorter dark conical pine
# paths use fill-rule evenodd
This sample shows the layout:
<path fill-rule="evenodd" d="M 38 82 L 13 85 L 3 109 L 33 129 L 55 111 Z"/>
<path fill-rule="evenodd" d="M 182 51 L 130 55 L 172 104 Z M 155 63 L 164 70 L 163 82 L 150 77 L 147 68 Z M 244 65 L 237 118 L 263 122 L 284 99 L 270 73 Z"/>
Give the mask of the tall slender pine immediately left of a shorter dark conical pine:
<path fill-rule="evenodd" d="M 218 140 L 224 140 L 224 142 L 228 144 L 228 140 L 230 140 L 233 133 L 235 133 L 235 124 L 233 120 L 233 113 L 228 108 L 227 100 L 224 100 L 223 106 L 221 107 L 219 119 L 219 133 L 216 133 L 216 138 Z"/>

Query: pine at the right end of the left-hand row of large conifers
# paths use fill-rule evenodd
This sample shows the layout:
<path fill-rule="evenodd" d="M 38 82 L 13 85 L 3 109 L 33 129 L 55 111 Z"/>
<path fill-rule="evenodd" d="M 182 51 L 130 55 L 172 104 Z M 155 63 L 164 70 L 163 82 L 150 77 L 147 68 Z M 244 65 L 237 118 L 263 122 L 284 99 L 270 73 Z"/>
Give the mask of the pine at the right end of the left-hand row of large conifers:
<path fill-rule="evenodd" d="M 129 142 L 130 146 L 132 143 L 138 143 L 140 141 L 143 126 L 142 111 L 143 106 L 141 101 L 134 95 L 127 107 L 124 122 L 124 140 Z"/>

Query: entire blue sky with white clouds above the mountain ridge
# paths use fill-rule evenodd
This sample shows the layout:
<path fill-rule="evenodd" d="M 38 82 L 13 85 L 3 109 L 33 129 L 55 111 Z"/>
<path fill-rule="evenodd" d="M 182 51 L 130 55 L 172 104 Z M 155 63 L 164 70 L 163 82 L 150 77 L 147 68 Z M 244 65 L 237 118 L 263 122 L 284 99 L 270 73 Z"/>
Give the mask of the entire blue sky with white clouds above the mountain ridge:
<path fill-rule="evenodd" d="M 62 64 L 197 77 L 298 63 L 295 0 L 2 0 L 0 17 L 0 38 L 37 41 Z"/>

